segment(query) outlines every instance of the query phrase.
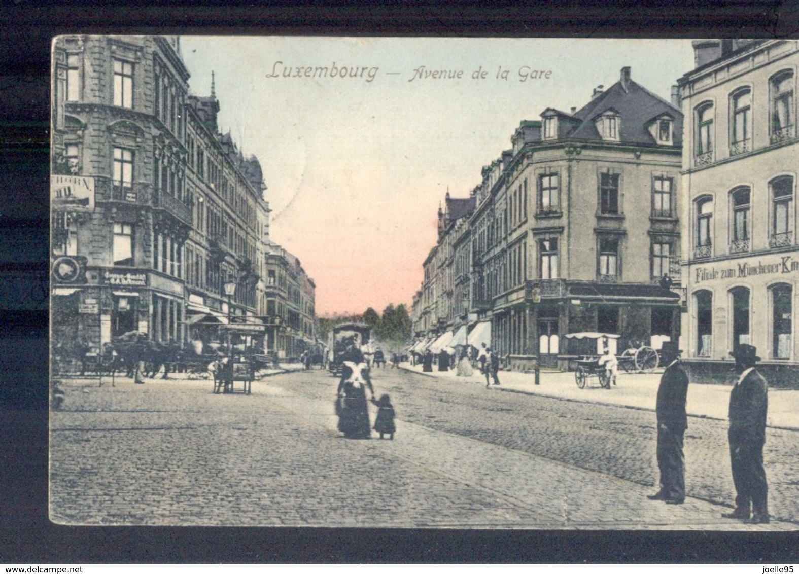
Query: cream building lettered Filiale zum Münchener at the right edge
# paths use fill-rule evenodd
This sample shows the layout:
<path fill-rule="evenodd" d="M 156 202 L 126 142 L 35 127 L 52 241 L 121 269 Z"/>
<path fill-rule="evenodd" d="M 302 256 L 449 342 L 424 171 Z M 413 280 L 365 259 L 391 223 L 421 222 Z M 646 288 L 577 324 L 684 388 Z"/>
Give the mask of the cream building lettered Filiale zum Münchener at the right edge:
<path fill-rule="evenodd" d="M 690 119 L 683 348 L 695 376 L 719 378 L 748 343 L 769 383 L 788 383 L 799 374 L 799 42 L 702 40 L 694 53 L 697 67 L 679 81 Z"/>

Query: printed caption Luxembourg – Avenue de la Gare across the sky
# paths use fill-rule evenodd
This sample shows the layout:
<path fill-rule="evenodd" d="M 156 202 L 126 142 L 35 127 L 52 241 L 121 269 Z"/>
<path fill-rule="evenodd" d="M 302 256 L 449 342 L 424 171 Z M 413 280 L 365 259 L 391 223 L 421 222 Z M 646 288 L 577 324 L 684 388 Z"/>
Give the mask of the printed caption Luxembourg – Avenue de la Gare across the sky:
<path fill-rule="evenodd" d="M 272 63 L 272 69 L 266 74 L 268 78 L 307 78 L 318 79 L 356 79 L 371 83 L 377 77 L 380 67 L 376 65 L 340 65 L 335 61 L 330 65 L 288 65 L 284 61 L 277 60 Z M 403 75 L 400 72 L 385 72 L 389 76 Z M 464 69 L 441 69 L 430 68 L 427 65 L 420 65 L 411 70 L 407 81 L 423 80 L 510 80 L 511 77 L 518 81 L 527 80 L 549 80 L 552 76 L 551 69 L 538 69 L 529 65 L 523 65 L 511 74 L 511 69 L 503 65 L 497 66 L 495 70 L 483 69 L 480 65 L 471 71 Z"/>

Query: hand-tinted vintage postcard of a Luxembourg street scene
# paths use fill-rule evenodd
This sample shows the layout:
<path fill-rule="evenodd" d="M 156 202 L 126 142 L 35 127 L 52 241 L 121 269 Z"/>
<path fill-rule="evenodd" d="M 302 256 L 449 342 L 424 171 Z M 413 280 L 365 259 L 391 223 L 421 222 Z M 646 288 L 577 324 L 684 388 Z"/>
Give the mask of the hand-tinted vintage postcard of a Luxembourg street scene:
<path fill-rule="evenodd" d="M 52 65 L 51 521 L 799 525 L 796 40 Z"/>

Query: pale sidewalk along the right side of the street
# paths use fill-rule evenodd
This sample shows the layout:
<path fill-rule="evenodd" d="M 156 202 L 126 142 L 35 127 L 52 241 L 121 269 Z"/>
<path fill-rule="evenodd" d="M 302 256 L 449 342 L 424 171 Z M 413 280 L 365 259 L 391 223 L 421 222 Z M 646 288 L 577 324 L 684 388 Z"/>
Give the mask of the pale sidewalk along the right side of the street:
<path fill-rule="evenodd" d="M 411 370 L 435 378 L 448 378 L 453 382 L 485 386 L 486 379 L 475 370 L 471 377 L 458 377 L 455 370 L 423 373 L 422 367 L 410 366 L 404 362 L 400 368 Z M 434 369 L 437 367 L 433 367 Z M 626 406 L 631 409 L 654 411 L 655 398 L 662 369 L 654 373 L 619 373 L 617 384 L 610 390 L 602 389 L 597 378 L 589 378 L 584 389 L 578 388 L 574 373 L 544 371 L 540 373 L 540 384 L 535 385 L 535 375 L 514 371 L 499 371 L 499 386 L 492 385 L 489 390 L 503 390 L 511 393 L 540 394 L 566 401 L 595 402 L 603 405 Z M 718 418 L 727 420 L 729 391 L 726 385 L 690 385 L 686 410 L 690 417 Z M 690 423 L 689 423 L 690 424 Z M 799 390 L 769 389 L 769 414 L 767 426 L 799 430 Z"/>

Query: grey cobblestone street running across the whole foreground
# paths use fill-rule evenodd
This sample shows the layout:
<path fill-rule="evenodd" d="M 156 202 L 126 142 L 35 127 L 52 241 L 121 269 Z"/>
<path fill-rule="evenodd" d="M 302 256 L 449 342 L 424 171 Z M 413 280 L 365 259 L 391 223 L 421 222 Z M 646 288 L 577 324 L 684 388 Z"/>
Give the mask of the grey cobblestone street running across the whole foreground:
<path fill-rule="evenodd" d="M 654 413 L 375 370 L 394 441 L 339 437 L 323 371 L 216 395 L 207 380 L 65 383 L 51 418 L 50 517 L 74 525 L 797 528 L 797 433 L 769 429 L 771 525 L 733 500 L 725 425 L 692 419 L 689 496 L 654 492 Z M 373 418 L 374 414 L 372 414 Z M 725 506 L 727 505 L 727 506 Z"/>

